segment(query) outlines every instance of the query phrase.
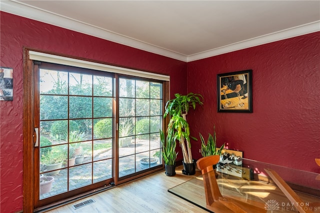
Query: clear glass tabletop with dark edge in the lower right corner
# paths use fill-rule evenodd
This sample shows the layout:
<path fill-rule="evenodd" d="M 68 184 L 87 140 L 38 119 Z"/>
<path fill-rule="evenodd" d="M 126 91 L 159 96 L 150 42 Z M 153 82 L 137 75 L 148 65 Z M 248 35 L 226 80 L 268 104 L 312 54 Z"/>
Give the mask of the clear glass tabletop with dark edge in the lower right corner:
<path fill-rule="evenodd" d="M 264 169 L 275 171 L 297 196 L 303 200 L 303 208 L 320 212 L 320 174 L 242 158 L 239 165 L 217 168 L 216 181 L 222 196 L 248 203 L 260 203 L 266 212 L 298 212 L 286 194 L 270 178 Z M 214 171 L 211 171 L 214 172 Z M 169 192 L 205 209 L 205 193 L 202 175 L 168 189 Z M 208 210 L 209 211 L 209 210 Z"/>

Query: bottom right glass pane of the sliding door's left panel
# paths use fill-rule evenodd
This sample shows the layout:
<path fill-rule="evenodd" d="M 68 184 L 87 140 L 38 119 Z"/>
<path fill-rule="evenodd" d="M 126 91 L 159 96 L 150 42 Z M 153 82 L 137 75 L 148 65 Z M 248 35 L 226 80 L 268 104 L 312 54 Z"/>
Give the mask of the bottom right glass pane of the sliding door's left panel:
<path fill-rule="evenodd" d="M 112 177 L 112 160 L 102 160 L 93 163 L 93 182 L 99 182 Z"/>

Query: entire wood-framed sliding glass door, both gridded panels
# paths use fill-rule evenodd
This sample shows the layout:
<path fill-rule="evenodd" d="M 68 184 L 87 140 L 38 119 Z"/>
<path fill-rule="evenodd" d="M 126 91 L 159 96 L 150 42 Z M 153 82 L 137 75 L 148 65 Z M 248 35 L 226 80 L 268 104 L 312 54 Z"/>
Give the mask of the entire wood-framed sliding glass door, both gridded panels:
<path fill-rule="evenodd" d="M 162 167 L 163 82 L 34 62 L 35 206 Z"/>

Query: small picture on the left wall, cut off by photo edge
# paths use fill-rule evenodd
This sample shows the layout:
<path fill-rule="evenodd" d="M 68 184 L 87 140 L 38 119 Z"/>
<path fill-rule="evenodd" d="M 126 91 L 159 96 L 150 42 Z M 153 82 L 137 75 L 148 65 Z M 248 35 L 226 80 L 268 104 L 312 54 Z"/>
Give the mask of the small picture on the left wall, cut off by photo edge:
<path fill-rule="evenodd" d="M 13 100 L 13 69 L 0 67 L 0 100 Z"/>

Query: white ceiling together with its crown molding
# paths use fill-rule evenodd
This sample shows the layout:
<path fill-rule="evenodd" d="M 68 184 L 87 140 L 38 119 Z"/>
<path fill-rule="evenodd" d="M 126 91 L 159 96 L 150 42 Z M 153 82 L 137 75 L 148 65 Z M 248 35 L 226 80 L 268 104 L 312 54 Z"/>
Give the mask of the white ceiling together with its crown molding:
<path fill-rule="evenodd" d="M 320 30 L 320 0 L 1 0 L 1 10 L 183 61 Z"/>

